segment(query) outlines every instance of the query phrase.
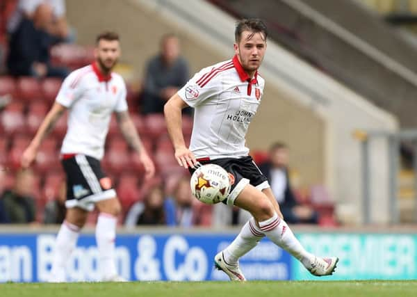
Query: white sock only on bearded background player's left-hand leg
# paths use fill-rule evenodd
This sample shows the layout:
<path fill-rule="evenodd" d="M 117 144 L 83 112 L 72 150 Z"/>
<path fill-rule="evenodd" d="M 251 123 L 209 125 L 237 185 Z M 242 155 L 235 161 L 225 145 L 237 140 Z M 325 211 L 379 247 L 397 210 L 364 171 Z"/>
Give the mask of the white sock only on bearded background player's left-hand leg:
<path fill-rule="evenodd" d="M 79 227 L 64 220 L 56 236 L 50 282 L 65 282 L 67 280 L 65 266 L 76 246 L 79 234 Z"/>

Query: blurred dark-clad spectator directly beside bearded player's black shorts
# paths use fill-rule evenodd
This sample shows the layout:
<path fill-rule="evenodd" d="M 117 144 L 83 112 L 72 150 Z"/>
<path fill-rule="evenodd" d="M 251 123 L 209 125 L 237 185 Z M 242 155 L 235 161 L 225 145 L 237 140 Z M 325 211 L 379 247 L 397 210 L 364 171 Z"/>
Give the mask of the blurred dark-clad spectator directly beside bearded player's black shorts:
<path fill-rule="evenodd" d="M 67 183 L 62 182 L 58 197 L 47 202 L 44 209 L 44 224 L 62 224 L 67 213 L 65 201 L 67 200 Z"/>

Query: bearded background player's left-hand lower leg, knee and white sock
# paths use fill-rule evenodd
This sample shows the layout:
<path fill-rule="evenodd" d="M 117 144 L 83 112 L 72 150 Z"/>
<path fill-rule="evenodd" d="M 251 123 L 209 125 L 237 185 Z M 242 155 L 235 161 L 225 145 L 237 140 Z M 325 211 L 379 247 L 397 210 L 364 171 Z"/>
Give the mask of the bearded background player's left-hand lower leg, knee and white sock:
<path fill-rule="evenodd" d="M 65 220 L 56 236 L 50 282 L 65 282 L 65 266 L 76 247 L 81 228 L 85 225 L 88 211 L 79 207 L 67 209 Z"/>

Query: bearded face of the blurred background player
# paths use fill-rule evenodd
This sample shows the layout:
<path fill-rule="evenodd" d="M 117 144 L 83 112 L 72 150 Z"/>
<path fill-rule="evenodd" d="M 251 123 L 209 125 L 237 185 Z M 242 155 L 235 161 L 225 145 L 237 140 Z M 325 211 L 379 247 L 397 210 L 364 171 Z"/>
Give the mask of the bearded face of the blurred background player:
<path fill-rule="evenodd" d="M 101 39 L 95 49 L 96 61 L 101 68 L 109 72 L 115 67 L 120 57 L 120 43 L 117 40 Z"/>

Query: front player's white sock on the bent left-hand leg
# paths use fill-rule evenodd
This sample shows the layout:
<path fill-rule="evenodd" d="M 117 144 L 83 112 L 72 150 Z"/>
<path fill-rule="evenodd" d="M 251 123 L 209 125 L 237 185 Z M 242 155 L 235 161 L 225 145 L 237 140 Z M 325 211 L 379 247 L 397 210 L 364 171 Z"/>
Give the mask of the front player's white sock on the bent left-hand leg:
<path fill-rule="evenodd" d="M 265 234 L 259 230 L 254 218 L 250 218 L 236 239 L 223 250 L 224 259 L 231 264 L 238 262 L 238 259 L 252 250 L 263 236 Z"/>

